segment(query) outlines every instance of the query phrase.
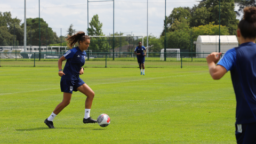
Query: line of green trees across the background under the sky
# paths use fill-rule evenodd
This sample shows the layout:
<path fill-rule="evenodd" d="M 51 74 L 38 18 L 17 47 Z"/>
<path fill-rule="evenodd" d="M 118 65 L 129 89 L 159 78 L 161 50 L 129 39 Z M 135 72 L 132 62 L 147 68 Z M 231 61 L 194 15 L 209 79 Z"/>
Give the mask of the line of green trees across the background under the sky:
<path fill-rule="evenodd" d="M 235 11 L 235 4 L 239 10 Z M 166 16 L 166 24 L 160 36 L 149 35 L 149 45 L 154 45 L 149 49 L 150 52 L 160 52 L 164 48 L 164 39 L 166 35 L 166 45 L 168 49 L 181 49 L 195 52 L 194 41 L 199 35 L 236 35 L 236 29 L 239 20 L 237 16 L 242 14 L 245 6 L 255 6 L 256 2 L 242 0 L 221 0 L 220 1 L 220 31 L 219 31 L 219 1 L 203 0 L 193 7 L 176 7 L 169 16 Z M 21 20 L 11 18 L 10 12 L 0 12 L 0 45 L 13 45 L 13 39 L 17 40 L 19 45 L 23 45 L 23 23 Z M 39 44 L 39 19 L 27 19 L 27 45 Z M 48 24 L 41 18 L 41 42 L 42 45 L 60 45 L 60 37 L 48 27 Z M 15 34 L 14 34 L 15 25 Z M 102 33 L 102 23 L 99 16 L 93 16 L 87 29 L 91 36 L 104 36 Z M 166 29 L 165 29 L 166 25 Z M 30 34 L 31 29 L 31 34 Z M 47 31 L 47 32 L 46 32 Z M 73 25 L 68 29 L 68 34 L 74 34 Z M 46 35 L 47 33 L 47 35 Z M 14 34 L 14 36 L 13 36 Z M 31 35 L 31 36 L 30 36 Z M 113 36 L 113 34 L 110 34 Z M 114 35 L 123 35 L 115 33 Z M 115 38 L 114 48 L 131 44 L 135 38 L 121 37 Z M 144 37 L 144 44 L 147 45 L 147 37 Z M 62 41 L 63 41 L 62 36 Z M 90 50 L 93 52 L 112 52 L 113 37 L 92 37 Z M 142 39 L 137 39 L 142 41 Z"/>

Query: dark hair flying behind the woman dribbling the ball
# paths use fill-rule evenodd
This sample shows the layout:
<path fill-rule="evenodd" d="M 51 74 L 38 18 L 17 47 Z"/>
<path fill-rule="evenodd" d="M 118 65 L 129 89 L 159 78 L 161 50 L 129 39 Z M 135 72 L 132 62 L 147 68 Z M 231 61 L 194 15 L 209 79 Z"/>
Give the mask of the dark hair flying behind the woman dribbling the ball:
<path fill-rule="evenodd" d="M 78 42 L 84 42 L 85 39 L 91 39 L 89 36 L 85 35 L 84 31 L 78 31 L 75 35 L 69 36 L 65 40 L 68 42 L 67 45 L 70 49 Z"/>

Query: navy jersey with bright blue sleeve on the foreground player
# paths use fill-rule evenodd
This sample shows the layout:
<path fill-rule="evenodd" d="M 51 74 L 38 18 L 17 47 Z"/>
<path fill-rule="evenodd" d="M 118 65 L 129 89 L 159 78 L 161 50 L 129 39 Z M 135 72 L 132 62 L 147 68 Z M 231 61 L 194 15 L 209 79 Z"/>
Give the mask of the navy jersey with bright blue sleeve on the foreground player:
<path fill-rule="evenodd" d="M 256 44 L 228 50 L 217 65 L 230 70 L 236 94 L 236 124 L 256 122 Z"/>

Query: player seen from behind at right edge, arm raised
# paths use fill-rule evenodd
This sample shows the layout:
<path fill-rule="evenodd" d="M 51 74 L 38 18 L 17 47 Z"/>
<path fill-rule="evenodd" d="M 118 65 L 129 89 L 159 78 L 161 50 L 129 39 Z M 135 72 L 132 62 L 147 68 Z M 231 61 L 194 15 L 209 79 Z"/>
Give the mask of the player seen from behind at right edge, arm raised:
<path fill-rule="evenodd" d="M 237 102 L 237 143 L 256 143 L 256 7 L 244 8 L 237 39 L 240 45 L 228 50 L 221 59 L 221 53 L 213 52 L 206 60 L 213 79 L 220 79 L 230 70 Z"/>

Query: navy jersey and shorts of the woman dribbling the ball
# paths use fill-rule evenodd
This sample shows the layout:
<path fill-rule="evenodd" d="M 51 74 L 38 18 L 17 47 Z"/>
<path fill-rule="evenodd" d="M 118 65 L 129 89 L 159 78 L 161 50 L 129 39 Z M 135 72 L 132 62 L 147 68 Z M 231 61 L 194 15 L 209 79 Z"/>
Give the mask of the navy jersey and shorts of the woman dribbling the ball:
<path fill-rule="evenodd" d="M 77 87 L 84 84 L 84 81 L 79 78 L 79 71 L 84 66 L 86 52 L 74 47 L 63 56 L 67 62 L 63 69 L 65 75 L 62 75 L 60 81 L 61 92 L 73 93 L 77 91 Z"/>

